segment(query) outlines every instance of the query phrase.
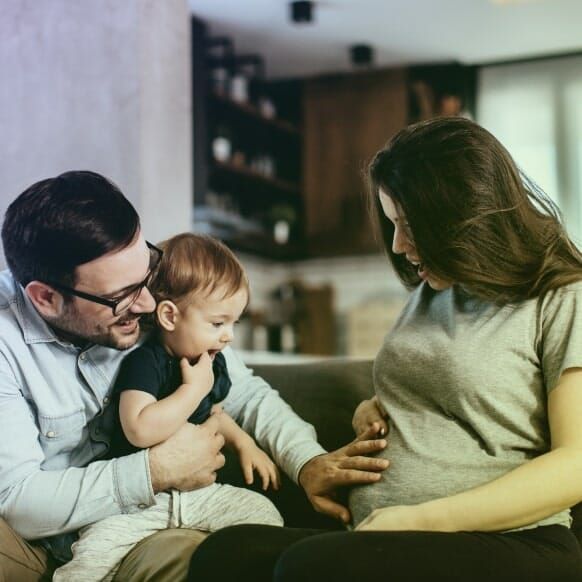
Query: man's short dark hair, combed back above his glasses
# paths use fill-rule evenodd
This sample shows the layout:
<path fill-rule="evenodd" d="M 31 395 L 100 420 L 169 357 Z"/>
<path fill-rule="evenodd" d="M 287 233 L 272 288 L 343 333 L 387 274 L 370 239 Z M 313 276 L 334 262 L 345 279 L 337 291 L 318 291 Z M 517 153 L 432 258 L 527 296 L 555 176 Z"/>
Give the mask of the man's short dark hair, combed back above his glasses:
<path fill-rule="evenodd" d="M 75 284 L 75 269 L 127 247 L 139 217 L 121 190 L 89 171 L 72 171 L 27 188 L 6 211 L 2 243 L 8 267 L 30 281 Z"/>

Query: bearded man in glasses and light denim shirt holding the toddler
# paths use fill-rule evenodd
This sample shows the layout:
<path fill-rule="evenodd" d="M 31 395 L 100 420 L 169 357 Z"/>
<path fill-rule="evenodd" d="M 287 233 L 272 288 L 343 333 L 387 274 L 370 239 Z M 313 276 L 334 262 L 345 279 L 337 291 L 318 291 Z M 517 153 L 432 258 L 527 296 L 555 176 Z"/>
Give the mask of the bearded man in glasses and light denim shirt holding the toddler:
<path fill-rule="evenodd" d="M 0 524 L 2 567 L 11 579 L 38 580 L 67 559 L 80 527 L 148 507 L 158 491 L 212 483 L 224 439 L 210 418 L 149 450 L 98 460 L 109 438 L 101 415 L 124 352 L 139 339 L 139 320 L 155 307 L 148 283 L 161 256 L 114 184 L 87 171 L 34 184 L 8 208 L 2 241 L 10 270 L 0 273 L 0 515 L 11 526 Z M 385 443 L 360 441 L 326 454 L 276 392 L 228 348 L 225 357 L 232 398 L 251 390 L 254 406 L 268 399 L 279 420 L 272 427 L 247 409 L 245 428 L 316 509 L 347 520 L 333 489 L 377 480 L 385 467 L 360 455 Z M 168 552 L 160 546 L 164 533 L 152 537 L 150 555 L 158 562 L 171 555 L 186 568 L 200 535 L 188 532 L 182 548 L 173 540 Z"/>

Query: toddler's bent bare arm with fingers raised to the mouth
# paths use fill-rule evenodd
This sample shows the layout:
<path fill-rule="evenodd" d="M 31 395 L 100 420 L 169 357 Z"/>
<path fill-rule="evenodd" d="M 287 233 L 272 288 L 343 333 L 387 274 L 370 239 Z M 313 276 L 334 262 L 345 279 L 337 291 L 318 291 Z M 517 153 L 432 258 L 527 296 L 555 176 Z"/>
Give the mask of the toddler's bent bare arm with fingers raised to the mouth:
<path fill-rule="evenodd" d="M 147 448 L 171 437 L 198 408 L 214 383 L 212 360 L 207 353 L 191 365 L 180 361 L 182 384 L 169 396 L 156 400 L 141 390 L 124 390 L 119 401 L 119 417 L 127 440 Z"/>

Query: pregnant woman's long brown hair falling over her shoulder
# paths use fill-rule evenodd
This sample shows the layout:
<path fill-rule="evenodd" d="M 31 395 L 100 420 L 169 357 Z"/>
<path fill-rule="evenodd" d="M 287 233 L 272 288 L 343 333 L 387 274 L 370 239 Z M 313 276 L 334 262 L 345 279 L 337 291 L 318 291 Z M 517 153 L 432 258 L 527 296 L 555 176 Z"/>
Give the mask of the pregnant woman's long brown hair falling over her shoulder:
<path fill-rule="evenodd" d="M 430 271 L 477 297 L 514 303 L 582 279 L 582 254 L 556 205 L 472 121 L 442 117 L 401 130 L 376 154 L 368 178 L 386 252 L 408 288 L 421 280 L 392 251 L 394 225 L 379 190 L 402 211 Z"/>

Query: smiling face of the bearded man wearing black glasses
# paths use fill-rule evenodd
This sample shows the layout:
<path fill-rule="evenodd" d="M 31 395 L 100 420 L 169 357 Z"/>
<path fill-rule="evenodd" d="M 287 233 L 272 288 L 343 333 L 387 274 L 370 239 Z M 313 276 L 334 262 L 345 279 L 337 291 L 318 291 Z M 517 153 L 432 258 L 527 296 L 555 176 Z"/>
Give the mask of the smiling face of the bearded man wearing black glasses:
<path fill-rule="evenodd" d="M 75 289 L 116 299 L 123 291 L 144 280 L 150 266 L 150 252 L 140 233 L 128 247 L 113 251 L 76 269 Z M 48 323 L 58 335 L 73 343 L 95 343 L 118 350 L 131 348 L 139 338 L 139 318 L 155 308 L 147 288 L 137 301 L 119 316 L 111 307 L 70 296 L 59 315 Z"/>

